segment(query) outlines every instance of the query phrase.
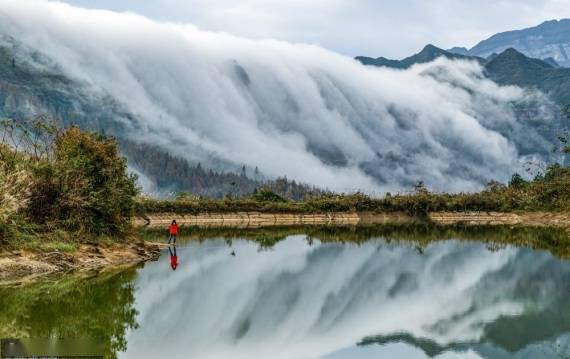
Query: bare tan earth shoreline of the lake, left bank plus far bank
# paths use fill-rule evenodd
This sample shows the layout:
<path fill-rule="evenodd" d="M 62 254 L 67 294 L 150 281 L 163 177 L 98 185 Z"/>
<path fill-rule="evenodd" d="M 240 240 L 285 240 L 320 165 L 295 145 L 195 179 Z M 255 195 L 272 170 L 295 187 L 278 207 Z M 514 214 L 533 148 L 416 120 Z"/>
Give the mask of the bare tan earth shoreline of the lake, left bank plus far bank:
<path fill-rule="evenodd" d="M 568 234 L 570 214 L 554 212 L 434 212 L 426 217 L 405 213 L 332 212 L 314 214 L 228 212 L 181 215 L 153 214 L 135 218 L 139 229 L 165 229 L 172 219 L 182 226 L 203 229 L 262 229 L 277 227 L 413 227 L 435 225 L 439 228 L 501 227 L 558 228 Z M 81 244 L 72 252 L 31 250 L 0 250 L 0 286 L 21 285 L 58 274 L 105 272 L 157 260 L 164 243 L 140 240 L 118 244 Z"/>

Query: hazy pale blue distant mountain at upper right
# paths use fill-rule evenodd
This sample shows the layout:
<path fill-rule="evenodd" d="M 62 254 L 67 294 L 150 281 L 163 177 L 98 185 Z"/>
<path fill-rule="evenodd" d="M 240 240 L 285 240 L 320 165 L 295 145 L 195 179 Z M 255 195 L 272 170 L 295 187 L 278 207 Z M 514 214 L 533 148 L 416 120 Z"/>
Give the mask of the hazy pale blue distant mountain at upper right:
<path fill-rule="evenodd" d="M 561 66 L 570 67 L 570 19 L 546 21 L 535 27 L 493 35 L 471 48 L 468 54 L 487 57 L 508 48 L 528 57 L 551 57 Z"/>

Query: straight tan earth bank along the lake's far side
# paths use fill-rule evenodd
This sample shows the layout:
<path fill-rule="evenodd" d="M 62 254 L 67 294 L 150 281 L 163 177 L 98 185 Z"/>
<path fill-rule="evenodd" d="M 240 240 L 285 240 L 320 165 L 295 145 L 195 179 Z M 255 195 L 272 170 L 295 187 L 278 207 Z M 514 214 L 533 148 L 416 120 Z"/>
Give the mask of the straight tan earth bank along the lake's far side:
<path fill-rule="evenodd" d="M 306 225 L 520 225 L 570 228 L 570 213 L 564 212 L 431 212 L 425 217 L 404 212 L 328 212 L 328 213 L 153 213 L 137 217 L 135 227 L 166 228 L 176 219 L 178 224 L 195 227 L 258 228 Z"/>

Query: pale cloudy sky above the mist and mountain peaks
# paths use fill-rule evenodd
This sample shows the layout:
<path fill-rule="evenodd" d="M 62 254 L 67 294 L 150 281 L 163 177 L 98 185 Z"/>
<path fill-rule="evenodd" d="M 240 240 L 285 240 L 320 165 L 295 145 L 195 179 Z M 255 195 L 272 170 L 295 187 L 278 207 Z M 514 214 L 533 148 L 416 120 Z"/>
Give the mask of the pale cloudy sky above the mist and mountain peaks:
<path fill-rule="evenodd" d="M 432 43 L 472 47 L 502 31 L 570 18 L 570 0 L 65 0 L 254 39 L 402 58 Z"/>

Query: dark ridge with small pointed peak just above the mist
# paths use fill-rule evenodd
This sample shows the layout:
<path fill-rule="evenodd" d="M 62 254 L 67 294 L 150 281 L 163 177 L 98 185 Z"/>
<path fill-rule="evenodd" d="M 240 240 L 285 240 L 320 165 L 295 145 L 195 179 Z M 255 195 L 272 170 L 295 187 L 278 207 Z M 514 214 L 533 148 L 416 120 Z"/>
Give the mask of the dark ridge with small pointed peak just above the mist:
<path fill-rule="evenodd" d="M 396 69 L 407 69 L 410 68 L 412 65 L 415 64 L 423 64 L 426 62 L 431 62 L 437 59 L 440 56 L 444 56 L 448 59 L 459 59 L 459 60 L 476 60 L 480 62 L 484 62 L 484 59 L 474 57 L 474 56 L 465 56 L 458 53 L 449 52 L 439 47 L 436 47 L 432 44 L 426 45 L 422 51 L 418 52 L 415 55 L 410 57 L 406 57 L 403 60 L 390 60 L 385 57 L 378 57 L 378 58 L 371 58 L 366 56 L 358 56 L 356 60 L 360 61 L 364 65 L 373 65 L 373 66 L 384 66 L 384 67 L 391 67 Z"/>

